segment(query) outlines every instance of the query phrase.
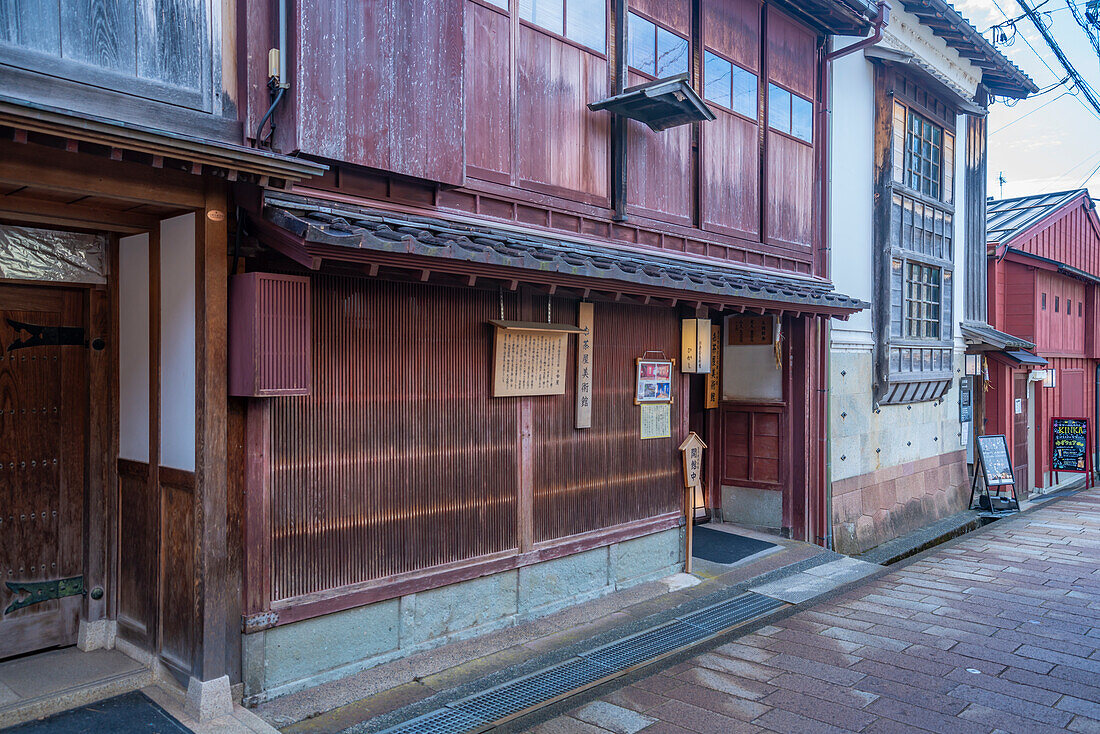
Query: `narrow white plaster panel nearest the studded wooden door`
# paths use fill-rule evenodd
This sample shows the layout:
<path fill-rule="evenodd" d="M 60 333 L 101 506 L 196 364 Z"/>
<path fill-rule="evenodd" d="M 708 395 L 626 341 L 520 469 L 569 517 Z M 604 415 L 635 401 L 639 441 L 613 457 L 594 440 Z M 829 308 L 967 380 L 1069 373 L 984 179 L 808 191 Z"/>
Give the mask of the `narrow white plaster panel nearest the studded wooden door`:
<path fill-rule="evenodd" d="M 148 235 L 119 240 L 119 458 L 148 461 Z"/>

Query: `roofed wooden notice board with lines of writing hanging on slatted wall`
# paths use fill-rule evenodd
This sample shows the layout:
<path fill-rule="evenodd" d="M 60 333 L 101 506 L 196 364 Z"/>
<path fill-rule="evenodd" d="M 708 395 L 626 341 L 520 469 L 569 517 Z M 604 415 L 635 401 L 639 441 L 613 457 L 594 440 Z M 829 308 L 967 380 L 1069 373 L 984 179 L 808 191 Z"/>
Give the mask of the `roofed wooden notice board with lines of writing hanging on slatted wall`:
<path fill-rule="evenodd" d="M 490 321 L 493 342 L 493 397 L 563 395 L 571 324 Z"/>

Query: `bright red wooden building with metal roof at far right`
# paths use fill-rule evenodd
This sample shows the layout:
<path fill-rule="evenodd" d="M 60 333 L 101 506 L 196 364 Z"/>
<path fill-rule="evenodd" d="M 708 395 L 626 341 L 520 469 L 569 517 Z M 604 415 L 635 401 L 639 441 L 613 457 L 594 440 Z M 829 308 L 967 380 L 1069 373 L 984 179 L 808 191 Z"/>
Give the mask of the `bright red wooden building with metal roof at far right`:
<path fill-rule="evenodd" d="M 1004 434 L 1022 495 L 1050 472 L 1050 418 L 1100 417 L 1100 220 L 1087 189 L 989 202 L 989 322 L 1035 343 L 990 352 L 986 434 Z M 1053 371 L 1053 374 L 1052 374 Z"/>

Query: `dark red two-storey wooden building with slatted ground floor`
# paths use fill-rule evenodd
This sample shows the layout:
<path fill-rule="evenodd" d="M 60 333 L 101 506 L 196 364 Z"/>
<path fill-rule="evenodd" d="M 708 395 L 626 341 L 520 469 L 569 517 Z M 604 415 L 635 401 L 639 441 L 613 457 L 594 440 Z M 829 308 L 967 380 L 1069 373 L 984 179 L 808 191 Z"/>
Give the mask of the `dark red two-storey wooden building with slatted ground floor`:
<path fill-rule="evenodd" d="M 713 515 L 822 543 L 826 39 L 878 9 L 297 4 L 270 138 L 329 169 L 241 201 L 245 697 L 679 570 L 689 430 Z"/>

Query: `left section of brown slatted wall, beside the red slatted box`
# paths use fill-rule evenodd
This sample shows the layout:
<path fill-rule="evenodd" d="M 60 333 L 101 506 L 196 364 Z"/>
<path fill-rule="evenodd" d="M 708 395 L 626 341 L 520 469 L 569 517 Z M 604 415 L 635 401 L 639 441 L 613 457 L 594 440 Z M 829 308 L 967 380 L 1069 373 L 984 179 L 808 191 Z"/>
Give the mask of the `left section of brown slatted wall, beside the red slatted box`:
<path fill-rule="evenodd" d="M 312 392 L 273 398 L 273 600 L 516 546 L 497 315 L 496 294 L 314 278 Z"/>

